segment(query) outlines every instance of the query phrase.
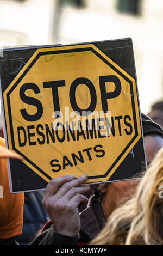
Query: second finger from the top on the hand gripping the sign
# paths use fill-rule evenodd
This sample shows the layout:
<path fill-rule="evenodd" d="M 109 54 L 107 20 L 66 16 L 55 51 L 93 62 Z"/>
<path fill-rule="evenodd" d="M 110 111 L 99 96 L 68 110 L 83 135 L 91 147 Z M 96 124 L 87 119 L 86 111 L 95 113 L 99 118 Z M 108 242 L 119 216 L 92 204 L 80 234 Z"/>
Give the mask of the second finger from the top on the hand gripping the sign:
<path fill-rule="evenodd" d="M 80 185 L 84 184 L 86 180 L 87 175 L 84 174 L 82 176 L 79 176 L 77 179 L 65 182 L 55 194 L 56 198 L 64 196 L 69 190 L 71 190 L 72 187 L 79 187 Z"/>

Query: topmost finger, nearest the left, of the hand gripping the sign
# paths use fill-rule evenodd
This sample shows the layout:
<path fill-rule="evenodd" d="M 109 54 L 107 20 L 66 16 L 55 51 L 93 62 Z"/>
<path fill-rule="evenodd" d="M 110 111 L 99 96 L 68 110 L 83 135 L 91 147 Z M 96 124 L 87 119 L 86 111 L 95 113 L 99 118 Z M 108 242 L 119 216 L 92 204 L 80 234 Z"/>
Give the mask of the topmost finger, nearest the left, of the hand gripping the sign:
<path fill-rule="evenodd" d="M 70 182 L 73 180 L 75 177 L 74 175 L 65 175 L 61 176 L 55 179 L 52 179 L 49 181 L 48 185 L 46 186 L 45 189 L 45 197 L 51 197 L 54 196 L 55 193 L 59 190 L 59 188 L 66 182 Z"/>

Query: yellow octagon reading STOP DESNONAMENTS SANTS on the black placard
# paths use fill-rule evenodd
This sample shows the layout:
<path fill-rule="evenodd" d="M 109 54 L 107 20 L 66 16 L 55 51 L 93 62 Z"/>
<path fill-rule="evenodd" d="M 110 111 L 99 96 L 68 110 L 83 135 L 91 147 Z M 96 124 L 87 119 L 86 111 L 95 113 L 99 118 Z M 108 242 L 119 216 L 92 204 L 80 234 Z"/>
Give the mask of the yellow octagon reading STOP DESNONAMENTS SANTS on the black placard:
<path fill-rule="evenodd" d="M 133 77 L 93 44 L 39 48 L 3 93 L 9 148 L 45 181 L 108 181 L 142 137 Z"/>

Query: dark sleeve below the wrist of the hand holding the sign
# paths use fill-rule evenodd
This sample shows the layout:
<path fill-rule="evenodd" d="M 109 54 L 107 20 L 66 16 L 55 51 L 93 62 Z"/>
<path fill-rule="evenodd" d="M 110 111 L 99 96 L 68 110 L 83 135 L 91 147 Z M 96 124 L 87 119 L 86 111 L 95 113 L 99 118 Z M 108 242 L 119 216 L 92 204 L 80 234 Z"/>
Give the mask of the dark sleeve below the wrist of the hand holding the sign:
<path fill-rule="evenodd" d="M 66 236 L 57 233 L 53 225 L 40 235 L 38 235 L 29 245 L 77 245 L 79 240 L 77 236 Z"/>

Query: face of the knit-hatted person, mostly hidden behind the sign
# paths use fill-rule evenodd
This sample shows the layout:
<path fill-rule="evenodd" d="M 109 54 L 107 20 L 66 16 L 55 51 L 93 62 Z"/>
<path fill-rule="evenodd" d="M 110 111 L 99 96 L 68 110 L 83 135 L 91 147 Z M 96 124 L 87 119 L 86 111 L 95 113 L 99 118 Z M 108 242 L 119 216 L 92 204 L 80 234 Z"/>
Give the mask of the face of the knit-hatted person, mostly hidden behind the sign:
<path fill-rule="evenodd" d="M 163 139 L 159 136 L 152 137 L 146 136 L 145 140 L 145 151 L 147 163 L 151 163 L 159 149 L 163 147 Z M 125 180 L 110 182 L 107 187 L 101 191 L 104 193 L 102 200 L 102 208 L 105 212 L 105 216 L 108 217 L 112 210 L 121 203 L 126 202 L 135 192 L 137 180 Z M 110 205 L 108 205 L 108 202 Z M 112 207 L 111 207 L 112 204 Z"/>

